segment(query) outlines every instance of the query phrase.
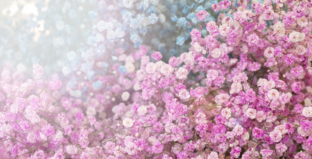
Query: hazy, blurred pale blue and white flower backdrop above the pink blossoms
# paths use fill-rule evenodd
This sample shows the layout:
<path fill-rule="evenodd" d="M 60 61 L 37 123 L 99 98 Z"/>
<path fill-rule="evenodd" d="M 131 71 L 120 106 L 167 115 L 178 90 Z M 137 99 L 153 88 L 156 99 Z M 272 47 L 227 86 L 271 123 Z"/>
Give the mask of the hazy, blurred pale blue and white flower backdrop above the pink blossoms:
<path fill-rule="evenodd" d="M 92 79 L 99 60 L 145 45 L 167 62 L 189 48 L 189 32 L 216 17 L 204 0 L 1 0 L 0 65 Z M 209 12 L 198 21 L 199 10 Z M 127 52 L 125 52 L 127 54 Z M 28 69 L 26 69 L 28 68 Z"/>

